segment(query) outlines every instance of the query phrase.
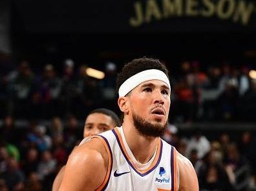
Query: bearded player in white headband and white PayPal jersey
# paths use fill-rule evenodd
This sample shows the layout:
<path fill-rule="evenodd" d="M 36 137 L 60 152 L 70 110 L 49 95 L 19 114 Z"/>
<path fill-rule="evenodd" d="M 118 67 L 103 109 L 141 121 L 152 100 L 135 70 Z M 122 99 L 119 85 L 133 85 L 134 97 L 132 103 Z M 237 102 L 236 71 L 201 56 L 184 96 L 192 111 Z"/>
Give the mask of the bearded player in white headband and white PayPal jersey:
<path fill-rule="evenodd" d="M 167 126 L 171 86 L 156 59 L 134 59 L 118 74 L 123 125 L 93 136 L 72 152 L 63 190 L 191 190 L 191 162 L 160 139 Z"/>

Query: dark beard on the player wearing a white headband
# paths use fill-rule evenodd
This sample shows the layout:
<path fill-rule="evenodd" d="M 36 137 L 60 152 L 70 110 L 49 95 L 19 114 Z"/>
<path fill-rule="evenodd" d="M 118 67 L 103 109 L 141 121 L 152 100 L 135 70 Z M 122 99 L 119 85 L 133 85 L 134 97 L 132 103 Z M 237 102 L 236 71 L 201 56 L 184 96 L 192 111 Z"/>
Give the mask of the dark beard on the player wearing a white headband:
<path fill-rule="evenodd" d="M 167 129 L 167 122 L 164 125 L 160 123 L 151 123 L 142 117 L 133 113 L 133 124 L 139 134 L 144 137 L 160 137 L 164 135 Z"/>

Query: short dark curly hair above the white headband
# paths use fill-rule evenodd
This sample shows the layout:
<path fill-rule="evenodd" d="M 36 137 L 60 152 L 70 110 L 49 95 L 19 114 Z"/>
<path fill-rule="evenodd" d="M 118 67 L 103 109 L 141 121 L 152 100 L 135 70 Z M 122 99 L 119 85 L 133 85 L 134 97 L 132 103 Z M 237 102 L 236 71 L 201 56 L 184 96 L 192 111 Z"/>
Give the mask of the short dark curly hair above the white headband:
<path fill-rule="evenodd" d="M 168 79 L 168 70 L 163 63 L 158 59 L 142 57 L 134 59 L 130 63 L 127 63 L 123 66 L 122 72 L 120 72 L 116 79 L 116 91 L 118 92 L 120 86 L 127 80 L 129 77 L 138 74 L 144 70 L 156 69 L 161 70 L 164 74 L 167 75 Z"/>

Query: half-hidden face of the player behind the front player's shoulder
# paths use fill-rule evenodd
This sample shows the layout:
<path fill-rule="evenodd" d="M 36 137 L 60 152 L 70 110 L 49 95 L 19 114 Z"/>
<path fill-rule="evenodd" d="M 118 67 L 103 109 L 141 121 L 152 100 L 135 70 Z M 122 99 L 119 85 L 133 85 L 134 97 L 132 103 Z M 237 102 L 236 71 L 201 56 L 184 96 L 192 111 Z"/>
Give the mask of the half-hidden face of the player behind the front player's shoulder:
<path fill-rule="evenodd" d="M 105 114 L 90 114 L 83 128 L 83 137 L 93 136 L 114 128 L 112 118 Z"/>

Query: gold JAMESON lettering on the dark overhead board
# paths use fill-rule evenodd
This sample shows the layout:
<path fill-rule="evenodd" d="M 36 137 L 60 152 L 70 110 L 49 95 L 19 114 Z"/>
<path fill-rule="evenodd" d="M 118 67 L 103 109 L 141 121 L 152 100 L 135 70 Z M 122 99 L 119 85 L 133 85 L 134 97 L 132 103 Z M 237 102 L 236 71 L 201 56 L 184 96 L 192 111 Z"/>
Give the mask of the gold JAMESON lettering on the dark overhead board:
<path fill-rule="evenodd" d="M 171 19 L 173 17 L 217 17 L 240 25 L 248 25 L 255 16 L 254 1 L 235 0 L 147 0 L 145 3 L 134 3 L 133 16 L 129 25 L 140 25 Z"/>

